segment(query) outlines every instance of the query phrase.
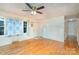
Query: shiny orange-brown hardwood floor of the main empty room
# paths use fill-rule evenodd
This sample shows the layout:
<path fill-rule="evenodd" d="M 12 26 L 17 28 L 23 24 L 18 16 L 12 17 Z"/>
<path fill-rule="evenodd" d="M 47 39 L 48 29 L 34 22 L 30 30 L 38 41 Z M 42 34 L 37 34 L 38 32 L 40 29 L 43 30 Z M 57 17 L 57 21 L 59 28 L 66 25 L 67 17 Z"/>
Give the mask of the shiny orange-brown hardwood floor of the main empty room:
<path fill-rule="evenodd" d="M 79 51 L 64 49 L 64 43 L 46 38 L 33 38 L 17 41 L 10 45 L 0 47 L 1 55 L 62 55 L 79 54 Z"/>

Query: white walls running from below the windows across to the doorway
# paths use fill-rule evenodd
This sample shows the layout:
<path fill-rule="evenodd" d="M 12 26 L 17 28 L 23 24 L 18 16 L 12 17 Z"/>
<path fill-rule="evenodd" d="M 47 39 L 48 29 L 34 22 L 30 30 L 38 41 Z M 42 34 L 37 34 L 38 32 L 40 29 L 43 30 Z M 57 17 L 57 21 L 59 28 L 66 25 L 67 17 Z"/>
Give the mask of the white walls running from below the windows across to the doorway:
<path fill-rule="evenodd" d="M 0 46 L 10 44 L 13 41 L 22 41 L 36 36 L 64 41 L 64 16 L 47 19 L 44 22 L 27 22 L 27 33 L 22 33 L 19 36 L 0 36 Z M 33 24 L 33 27 L 31 24 Z"/>

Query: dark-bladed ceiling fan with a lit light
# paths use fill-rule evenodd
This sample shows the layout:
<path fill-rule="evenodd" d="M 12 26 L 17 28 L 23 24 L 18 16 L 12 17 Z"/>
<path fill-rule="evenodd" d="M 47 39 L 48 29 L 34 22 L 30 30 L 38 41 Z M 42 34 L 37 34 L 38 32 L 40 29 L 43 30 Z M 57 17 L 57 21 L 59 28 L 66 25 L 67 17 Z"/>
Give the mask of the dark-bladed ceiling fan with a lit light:
<path fill-rule="evenodd" d="M 39 10 L 44 9 L 44 6 L 40 6 L 40 7 L 36 7 L 36 6 L 31 6 L 29 3 L 25 3 L 31 10 L 22 10 L 22 11 L 30 11 L 32 15 L 36 15 L 38 14 L 43 14 L 42 12 L 40 12 Z"/>

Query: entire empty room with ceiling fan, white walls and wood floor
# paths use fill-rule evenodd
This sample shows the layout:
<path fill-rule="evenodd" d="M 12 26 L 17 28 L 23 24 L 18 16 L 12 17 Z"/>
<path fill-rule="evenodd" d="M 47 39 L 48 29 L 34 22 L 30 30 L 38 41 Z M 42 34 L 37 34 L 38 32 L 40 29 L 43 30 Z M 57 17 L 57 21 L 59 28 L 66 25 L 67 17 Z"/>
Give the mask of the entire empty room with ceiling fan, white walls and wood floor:
<path fill-rule="evenodd" d="M 0 3 L 0 55 L 79 54 L 78 3 Z"/>

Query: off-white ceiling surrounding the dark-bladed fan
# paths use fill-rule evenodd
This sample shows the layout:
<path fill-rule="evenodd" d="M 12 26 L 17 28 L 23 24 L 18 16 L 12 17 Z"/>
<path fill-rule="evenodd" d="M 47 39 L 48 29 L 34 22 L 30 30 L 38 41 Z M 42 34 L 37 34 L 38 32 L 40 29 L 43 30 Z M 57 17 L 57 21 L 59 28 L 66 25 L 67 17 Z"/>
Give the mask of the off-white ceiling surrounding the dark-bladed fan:
<path fill-rule="evenodd" d="M 23 12 L 23 9 L 29 10 L 28 6 L 26 6 L 24 3 L 0 3 L 0 11 L 34 19 L 48 19 L 56 16 L 79 13 L 78 3 L 32 3 L 31 5 L 36 7 L 44 5 L 45 9 L 40 10 L 41 12 L 43 12 L 43 14 L 37 14 L 33 16 L 30 15 L 30 12 Z"/>

